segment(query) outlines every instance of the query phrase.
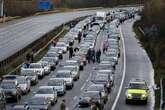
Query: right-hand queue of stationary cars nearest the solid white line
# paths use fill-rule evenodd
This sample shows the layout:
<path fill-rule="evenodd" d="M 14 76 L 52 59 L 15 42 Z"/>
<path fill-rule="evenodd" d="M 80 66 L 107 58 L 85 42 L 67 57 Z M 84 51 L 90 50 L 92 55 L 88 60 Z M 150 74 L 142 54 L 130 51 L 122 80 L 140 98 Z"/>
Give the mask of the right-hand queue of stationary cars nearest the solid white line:
<path fill-rule="evenodd" d="M 116 25 L 111 23 L 105 25 L 108 26 L 107 30 L 104 30 L 106 31 L 105 42 L 108 43 L 108 49 L 102 54 L 100 63 L 96 64 L 91 71 L 92 77 L 79 98 L 79 109 L 91 109 L 93 105 L 96 105 L 99 110 L 102 110 L 114 84 L 115 68 L 120 57 L 120 34 Z M 113 31 L 111 27 L 113 27 Z M 111 35 L 116 35 L 116 37 L 112 38 Z"/>

